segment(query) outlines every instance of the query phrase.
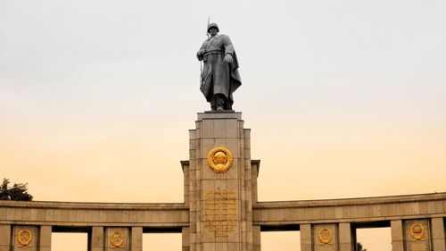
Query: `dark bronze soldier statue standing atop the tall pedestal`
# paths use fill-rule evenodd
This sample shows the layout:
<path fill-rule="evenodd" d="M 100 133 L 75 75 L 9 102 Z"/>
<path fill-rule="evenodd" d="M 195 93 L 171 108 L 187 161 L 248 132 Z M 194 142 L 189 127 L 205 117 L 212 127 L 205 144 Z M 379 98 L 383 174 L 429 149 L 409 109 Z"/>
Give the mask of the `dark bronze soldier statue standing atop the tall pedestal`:
<path fill-rule="evenodd" d="M 208 25 L 208 32 L 211 37 L 204 40 L 196 54 L 204 64 L 200 90 L 212 111 L 232 110 L 232 93 L 242 85 L 234 46 L 227 35 L 218 34 L 216 23 Z"/>

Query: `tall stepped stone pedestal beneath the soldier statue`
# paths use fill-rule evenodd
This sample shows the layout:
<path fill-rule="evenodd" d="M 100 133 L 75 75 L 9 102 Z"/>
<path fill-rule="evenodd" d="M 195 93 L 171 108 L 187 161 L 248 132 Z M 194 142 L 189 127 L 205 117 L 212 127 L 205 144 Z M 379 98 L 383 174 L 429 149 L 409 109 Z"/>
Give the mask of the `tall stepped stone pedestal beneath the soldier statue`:
<path fill-rule="evenodd" d="M 189 132 L 190 250 L 252 250 L 250 130 L 242 113 L 198 113 L 196 129 Z M 230 155 L 232 165 L 224 171 Z"/>

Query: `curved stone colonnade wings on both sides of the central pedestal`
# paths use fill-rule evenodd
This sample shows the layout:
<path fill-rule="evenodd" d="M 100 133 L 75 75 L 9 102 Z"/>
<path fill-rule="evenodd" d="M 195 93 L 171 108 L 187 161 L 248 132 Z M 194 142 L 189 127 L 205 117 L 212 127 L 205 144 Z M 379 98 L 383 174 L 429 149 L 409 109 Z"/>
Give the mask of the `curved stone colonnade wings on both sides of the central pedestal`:
<path fill-rule="evenodd" d="M 356 230 L 370 226 L 391 228 L 392 251 L 446 251 L 445 209 L 446 193 L 257 202 L 252 250 L 261 231 L 299 230 L 301 251 L 354 251 Z M 185 204 L 0 201 L 0 251 L 50 251 L 52 233 L 70 231 L 87 233 L 89 251 L 141 251 L 144 232 L 178 232 L 189 251 L 188 214 Z"/>

